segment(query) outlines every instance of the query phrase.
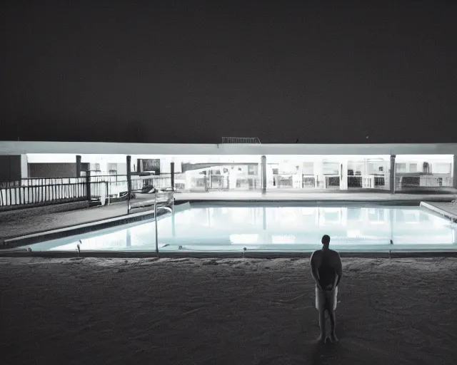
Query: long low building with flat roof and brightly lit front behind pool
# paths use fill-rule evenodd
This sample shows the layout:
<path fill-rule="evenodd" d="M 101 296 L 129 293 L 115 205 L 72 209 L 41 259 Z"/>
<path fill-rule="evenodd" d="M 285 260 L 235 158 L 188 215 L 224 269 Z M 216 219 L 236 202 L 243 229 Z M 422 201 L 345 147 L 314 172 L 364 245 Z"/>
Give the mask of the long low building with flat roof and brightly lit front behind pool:
<path fill-rule="evenodd" d="M 0 187 L 108 184 L 175 191 L 447 191 L 457 144 L 146 144 L 0 142 Z M 83 181 L 84 180 L 84 181 Z M 116 182 L 116 183 L 112 183 Z M 102 185 L 103 185 L 102 184 Z M 97 189 L 100 189 L 99 187 Z M 146 191 L 146 190 L 144 190 Z M 94 188 L 92 189 L 94 194 Z M 19 192 L 15 191 L 18 195 Z M 71 189 L 64 192 L 71 195 Z M 10 194 L 11 195 L 11 194 Z M 3 196 L 3 205 L 8 197 Z M 11 200 L 26 203 L 24 197 Z M 18 200 L 19 199 L 19 200 Z M 10 204 L 12 202 L 9 202 Z"/>

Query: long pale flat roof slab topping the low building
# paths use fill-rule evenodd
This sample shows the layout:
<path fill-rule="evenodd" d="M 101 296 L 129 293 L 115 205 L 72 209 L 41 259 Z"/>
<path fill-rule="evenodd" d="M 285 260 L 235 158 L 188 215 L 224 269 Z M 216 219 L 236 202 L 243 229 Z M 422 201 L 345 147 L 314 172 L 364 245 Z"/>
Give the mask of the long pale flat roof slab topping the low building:
<path fill-rule="evenodd" d="M 0 141 L 0 155 L 454 155 L 457 143 L 179 144 Z"/>

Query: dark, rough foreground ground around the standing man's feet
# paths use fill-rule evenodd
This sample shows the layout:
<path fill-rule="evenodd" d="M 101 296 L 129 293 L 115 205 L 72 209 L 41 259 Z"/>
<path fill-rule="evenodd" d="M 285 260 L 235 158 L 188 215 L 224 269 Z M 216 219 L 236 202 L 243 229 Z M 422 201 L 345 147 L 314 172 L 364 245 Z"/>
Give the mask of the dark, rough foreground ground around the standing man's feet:
<path fill-rule="evenodd" d="M 457 259 L 0 259 L 2 364 L 455 364 Z"/>

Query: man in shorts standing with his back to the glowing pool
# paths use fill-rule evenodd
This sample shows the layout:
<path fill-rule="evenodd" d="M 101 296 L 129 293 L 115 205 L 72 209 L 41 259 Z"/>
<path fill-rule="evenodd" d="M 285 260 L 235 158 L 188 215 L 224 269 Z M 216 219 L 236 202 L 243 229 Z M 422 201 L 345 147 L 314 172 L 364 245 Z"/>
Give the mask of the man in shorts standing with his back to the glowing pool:
<path fill-rule="evenodd" d="M 335 310 L 338 295 L 338 284 L 343 276 L 343 267 L 338 252 L 330 250 L 330 237 L 323 235 L 322 250 L 316 250 L 311 255 L 311 274 L 316 282 L 316 309 L 319 311 L 319 327 L 321 335 L 319 342 L 326 341 L 326 311 L 330 317 L 331 334 L 330 340 L 337 342 L 335 334 L 336 319 Z"/>

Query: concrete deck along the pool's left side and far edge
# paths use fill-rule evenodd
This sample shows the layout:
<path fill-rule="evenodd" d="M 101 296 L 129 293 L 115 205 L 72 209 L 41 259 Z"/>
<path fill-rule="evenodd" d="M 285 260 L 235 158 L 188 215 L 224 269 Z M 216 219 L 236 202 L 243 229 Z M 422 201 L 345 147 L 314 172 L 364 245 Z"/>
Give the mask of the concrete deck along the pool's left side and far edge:
<path fill-rule="evenodd" d="M 453 194 L 390 194 L 388 192 L 176 192 L 176 204 L 184 202 L 341 202 L 341 203 L 383 203 L 392 205 L 419 205 L 422 201 L 451 204 L 455 199 Z M 142 194 L 138 200 L 153 199 L 154 194 Z M 136 213 L 135 210 L 133 213 Z M 149 215 L 148 215 L 149 214 Z M 114 218 L 117 218 L 114 220 Z M 104 207 L 91 207 L 69 212 L 54 212 L 46 215 L 21 215 L 21 211 L 14 211 L 0 217 L 0 243 L 15 237 L 28 235 L 44 235 L 51 230 L 71 230 L 75 226 L 92 226 L 92 230 L 101 229 L 106 222 L 117 221 L 116 224 L 126 224 L 135 220 L 150 219 L 151 212 L 141 212 L 136 215 L 127 215 L 126 202 L 119 202 Z M 133 219 L 133 220 L 132 220 Z M 97 227 L 99 226 L 99 227 Z M 85 231 L 87 232 L 87 230 Z"/>

